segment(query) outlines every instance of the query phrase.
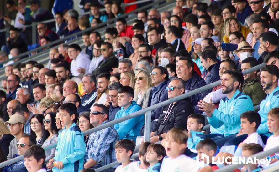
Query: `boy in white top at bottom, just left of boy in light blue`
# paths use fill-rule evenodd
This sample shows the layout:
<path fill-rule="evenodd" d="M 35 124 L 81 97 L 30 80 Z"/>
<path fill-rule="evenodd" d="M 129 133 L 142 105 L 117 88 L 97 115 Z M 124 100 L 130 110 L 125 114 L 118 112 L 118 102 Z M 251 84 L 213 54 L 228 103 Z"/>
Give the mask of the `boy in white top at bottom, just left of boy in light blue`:
<path fill-rule="evenodd" d="M 149 167 L 149 162 L 146 161 L 146 152 L 147 147 L 150 145 L 150 142 L 144 142 L 140 145 L 139 148 L 139 159 L 140 161 L 134 161 L 129 164 L 128 171 L 138 171 L 146 172 Z"/>

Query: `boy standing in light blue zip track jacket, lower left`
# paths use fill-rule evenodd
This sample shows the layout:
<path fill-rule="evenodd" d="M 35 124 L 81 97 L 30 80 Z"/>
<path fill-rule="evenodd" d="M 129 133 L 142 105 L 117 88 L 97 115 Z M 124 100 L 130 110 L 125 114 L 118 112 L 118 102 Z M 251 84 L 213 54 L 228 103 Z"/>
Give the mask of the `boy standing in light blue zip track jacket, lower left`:
<path fill-rule="evenodd" d="M 65 126 L 64 130 L 58 135 L 55 157 L 50 159 L 47 167 L 51 169 L 53 162 L 56 171 L 75 171 L 83 169 L 83 159 L 85 155 L 84 136 L 76 125 L 78 112 L 75 104 L 65 103 L 58 109 L 60 113 L 61 124 Z"/>

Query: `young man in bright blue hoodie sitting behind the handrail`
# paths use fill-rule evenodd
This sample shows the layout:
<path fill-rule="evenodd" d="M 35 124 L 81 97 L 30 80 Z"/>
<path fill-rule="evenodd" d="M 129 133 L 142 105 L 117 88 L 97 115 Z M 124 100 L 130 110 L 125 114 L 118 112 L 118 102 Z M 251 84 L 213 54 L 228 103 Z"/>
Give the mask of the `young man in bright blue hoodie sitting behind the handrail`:
<path fill-rule="evenodd" d="M 121 110 L 115 114 L 115 119 L 124 117 L 132 114 L 136 111 L 141 110 L 141 107 L 133 101 L 134 89 L 129 86 L 124 86 L 117 90 L 118 94 L 118 106 Z M 136 141 L 137 136 L 140 136 L 140 129 L 144 124 L 144 115 L 134 117 L 132 119 L 123 121 L 119 124 L 113 125 L 116 129 L 119 140 L 121 139 L 132 139 Z"/>

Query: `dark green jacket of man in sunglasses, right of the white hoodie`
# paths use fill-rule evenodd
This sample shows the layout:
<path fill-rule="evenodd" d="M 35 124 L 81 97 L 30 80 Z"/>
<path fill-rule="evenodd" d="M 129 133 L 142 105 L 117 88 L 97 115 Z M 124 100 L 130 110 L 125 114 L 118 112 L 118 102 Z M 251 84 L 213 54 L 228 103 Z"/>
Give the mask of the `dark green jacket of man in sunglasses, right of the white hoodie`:
<path fill-rule="evenodd" d="M 101 73 L 104 72 L 111 72 L 112 68 L 118 67 L 118 58 L 116 58 L 113 54 L 109 56 L 105 61 L 101 61 L 98 65 L 98 67 L 92 72 L 92 74 L 95 74 L 98 76 Z"/>

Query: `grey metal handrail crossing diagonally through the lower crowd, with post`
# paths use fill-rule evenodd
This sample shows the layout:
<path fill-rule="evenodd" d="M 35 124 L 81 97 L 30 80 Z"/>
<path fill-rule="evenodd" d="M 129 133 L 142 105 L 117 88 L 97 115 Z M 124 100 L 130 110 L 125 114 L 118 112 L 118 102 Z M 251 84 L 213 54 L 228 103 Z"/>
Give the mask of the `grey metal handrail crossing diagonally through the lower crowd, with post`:
<path fill-rule="evenodd" d="M 257 71 L 257 70 L 259 70 L 260 68 L 262 68 L 264 65 L 265 65 L 265 63 L 262 63 L 262 64 L 259 64 L 259 65 L 255 66 L 255 67 L 253 67 L 253 68 L 247 69 L 247 70 L 245 70 L 245 71 L 243 72 L 243 75 L 246 75 L 246 74 L 248 74 L 248 73 L 252 73 L 252 72 L 254 72 L 254 71 Z M 113 126 L 114 124 L 118 124 L 118 123 L 123 122 L 123 121 L 126 121 L 126 120 L 128 120 L 128 119 L 132 119 L 132 118 L 137 117 L 137 116 L 139 116 L 139 115 L 148 113 L 149 111 L 150 111 L 150 112 L 149 112 L 149 115 L 145 115 L 145 117 L 148 116 L 148 117 L 151 119 L 151 111 L 152 111 L 152 110 L 155 110 L 155 109 L 158 109 L 158 108 L 160 108 L 160 107 L 166 106 L 166 105 L 171 104 L 171 103 L 173 103 L 173 102 L 176 102 L 176 101 L 178 101 L 178 100 L 185 99 L 185 98 L 190 97 L 190 96 L 192 96 L 192 95 L 198 94 L 198 93 L 200 93 L 200 92 L 202 92 L 202 91 L 211 89 L 211 88 L 213 88 L 213 87 L 215 87 L 215 86 L 217 86 L 217 85 L 220 85 L 220 83 L 221 83 L 221 80 L 216 81 L 216 82 L 214 82 L 214 83 L 210 83 L 210 84 L 205 85 L 205 86 L 203 86 L 203 87 L 200 87 L 200 88 L 197 88 L 197 89 L 195 89 L 195 90 L 189 91 L 189 92 L 187 92 L 187 93 L 185 93 L 185 94 L 182 94 L 182 95 L 179 95 L 179 96 L 177 96 L 177 97 L 168 99 L 168 100 L 163 101 L 163 102 L 161 102 L 161 103 L 152 105 L 152 106 L 147 107 L 147 108 L 145 108 L 145 109 L 141 109 L 141 110 L 139 110 L 139 111 L 137 111 L 137 112 L 134 112 L 134 113 L 132 113 L 132 114 L 126 115 L 126 116 L 124 116 L 124 117 L 121 117 L 121 118 L 119 118 L 119 119 L 116 119 L 116 120 L 107 122 L 107 123 L 105 123 L 105 124 L 99 125 L 99 126 L 97 126 L 97 127 L 95 127 L 95 128 L 89 129 L 89 130 L 83 132 L 83 134 L 84 134 L 84 135 L 88 135 L 88 134 L 94 133 L 94 132 L 96 132 L 96 131 L 99 131 L 99 130 L 105 129 L 105 128 L 107 128 L 107 127 Z M 150 126 L 149 126 L 149 127 L 150 127 Z M 149 132 L 150 132 L 150 128 L 149 128 Z M 150 134 L 146 134 L 145 137 L 148 137 L 148 135 L 149 135 L 149 137 L 150 137 Z M 145 139 L 145 140 L 148 140 L 148 139 Z M 52 144 L 50 144 L 50 145 L 44 147 L 44 149 L 45 149 L 45 150 L 48 150 L 48 149 L 54 148 L 54 147 L 56 147 L 56 146 L 57 146 L 57 143 L 52 143 Z M 21 158 L 19 158 L 19 157 L 21 157 Z M 4 162 L 0 163 L 0 168 L 5 167 L 5 166 L 7 166 L 7 165 L 9 165 L 9 164 L 15 163 L 15 162 L 17 162 L 18 160 L 21 160 L 21 159 L 23 158 L 23 156 L 19 156 L 19 157 L 16 157 L 16 158 L 14 158 L 14 159 L 10 159 L 10 160 L 8 160 L 8 161 L 4 161 Z M 16 159 L 16 160 L 15 160 L 15 159 Z"/>

